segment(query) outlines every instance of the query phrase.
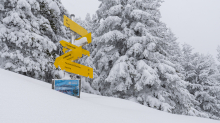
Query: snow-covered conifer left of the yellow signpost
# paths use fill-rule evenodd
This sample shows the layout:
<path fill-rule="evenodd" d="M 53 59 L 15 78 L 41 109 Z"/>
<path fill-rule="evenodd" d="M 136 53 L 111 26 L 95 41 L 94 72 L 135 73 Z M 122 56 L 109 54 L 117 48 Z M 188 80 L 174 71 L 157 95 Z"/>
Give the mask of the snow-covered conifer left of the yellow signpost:
<path fill-rule="evenodd" d="M 1 67 L 44 81 L 59 78 L 53 62 L 59 41 L 69 39 L 63 26 L 68 13 L 60 0 L 5 0 L 5 9 L 0 22 Z"/>

